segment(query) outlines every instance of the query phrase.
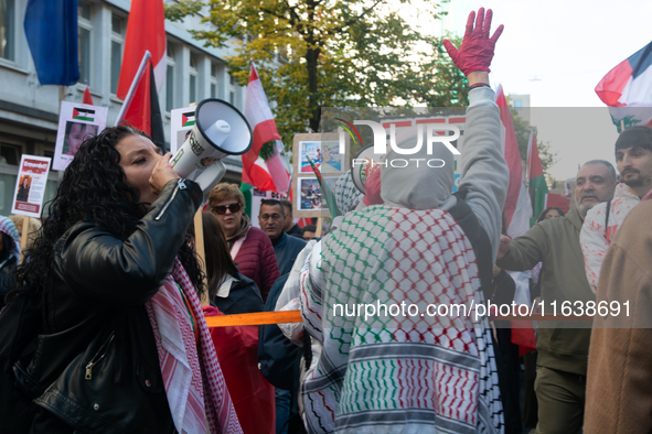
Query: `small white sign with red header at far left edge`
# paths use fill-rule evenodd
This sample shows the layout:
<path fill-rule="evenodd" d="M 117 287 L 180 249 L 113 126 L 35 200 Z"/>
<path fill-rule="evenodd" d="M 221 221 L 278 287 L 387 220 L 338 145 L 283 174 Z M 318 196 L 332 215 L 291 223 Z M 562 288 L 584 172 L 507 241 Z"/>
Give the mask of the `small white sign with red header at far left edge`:
<path fill-rule="evenodd" d="M 13 192 L 12 214 L 41 217 L 50 162 L 51 159 L 46 156 L 22 155 Z"/>

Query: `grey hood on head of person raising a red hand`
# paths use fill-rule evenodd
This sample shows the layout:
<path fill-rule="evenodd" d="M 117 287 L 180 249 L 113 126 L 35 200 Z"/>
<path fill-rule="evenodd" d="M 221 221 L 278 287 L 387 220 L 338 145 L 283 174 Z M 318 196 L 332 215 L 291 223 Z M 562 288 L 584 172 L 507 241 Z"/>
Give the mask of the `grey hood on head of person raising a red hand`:
<path fill-rule="evenodd" d="M 397 134 L 398 148 L 416 147 L 417 131 L 414 129 L 410 131 L 411 134 L 405 134 L 404 138 Z M 437 160 L 442 160 L 443 166 L 437 167 L 441 165 L 441 161 Z M 432 209 L 439 207 L 452 194 L 453 155 L 440 142 L 432 143 L 432 154 L 428 155 L 426 131 L 423 133 L 419 151 L 403 155 L 391 149 L 386 161 L 387 166 L 381 166 L 381 197 L 387 205 L 410 209 Z M 403 167 L 405 161 L 407 166 Z M 432 167 L 428 166 L 428 162 Z"/>

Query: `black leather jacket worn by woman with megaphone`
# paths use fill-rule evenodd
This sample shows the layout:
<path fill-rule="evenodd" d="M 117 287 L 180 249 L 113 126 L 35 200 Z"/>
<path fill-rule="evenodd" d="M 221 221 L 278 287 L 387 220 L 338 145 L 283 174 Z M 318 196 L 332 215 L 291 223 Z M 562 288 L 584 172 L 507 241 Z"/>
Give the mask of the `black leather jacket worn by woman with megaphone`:
<path fill-rule="evenodd" d="M 14 369 L 47 410 L 34 425 L 56 415 L 78 432 L 174 432 L 145 303 L 172 271 L 201 200 L 195 183 L 170 181 L 126 241 L 79 223 L 56 243 L 36 350 Z"/>

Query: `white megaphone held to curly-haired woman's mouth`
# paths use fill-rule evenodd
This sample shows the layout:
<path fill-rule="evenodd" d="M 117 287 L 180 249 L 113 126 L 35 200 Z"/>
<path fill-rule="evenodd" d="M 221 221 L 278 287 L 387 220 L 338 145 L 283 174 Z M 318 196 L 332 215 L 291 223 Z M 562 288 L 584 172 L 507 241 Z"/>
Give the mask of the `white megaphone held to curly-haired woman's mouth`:
<path fill-rule="evenodd" d="M 197 104 L 194 117 L 195 124 L 170 160 L 170 167 L 206 193 L 226 173 L 222 159 L 247 152 L 253 134 L 243 113 L 221 99 L 204 99 Z"/>

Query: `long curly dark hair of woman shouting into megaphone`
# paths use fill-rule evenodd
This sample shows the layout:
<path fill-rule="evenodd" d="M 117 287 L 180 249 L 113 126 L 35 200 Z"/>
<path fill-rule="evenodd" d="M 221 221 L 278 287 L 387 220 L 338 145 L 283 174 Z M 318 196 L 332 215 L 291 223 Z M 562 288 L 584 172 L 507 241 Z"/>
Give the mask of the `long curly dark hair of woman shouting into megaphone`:
<path fill-rule="evenodd" d="M 52 283 L 52 263 L 56 241 L 75 224 L 87 220 L 126 240 L 138 220 L 147 213 L 140 200 L 140 192 L 127 185 L 120 166 L 120 153 L 116 144 L 128 135 L 147 134 L 129 127 L 107 128 L 86 140 L 66 169 L 58 184 L 55 198 L 47 204 L 50 217 L 45 220 L 31 249 L 17 269 L 17 287 L 40 295 Z M 151 139 L 150 139 L 151 140 Z M 179 250 L 179 259 L 197 293 L 205 291 L 203 273 L 194 252 L 194 241 L 186 240 Z M 12 294 L 8 295 L 8 300 Z"/>

